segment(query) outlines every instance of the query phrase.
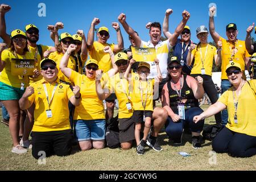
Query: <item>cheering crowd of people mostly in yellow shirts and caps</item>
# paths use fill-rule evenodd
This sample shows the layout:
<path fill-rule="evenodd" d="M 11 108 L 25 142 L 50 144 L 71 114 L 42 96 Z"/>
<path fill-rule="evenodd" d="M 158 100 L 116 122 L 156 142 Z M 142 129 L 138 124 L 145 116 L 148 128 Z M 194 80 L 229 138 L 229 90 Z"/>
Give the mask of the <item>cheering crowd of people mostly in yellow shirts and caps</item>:
<path fill-rule="evenodd" d="M 190 13 L 184 10 L 173 33 L 169 32 L 167 9 L 162 26 L 146 24 L 150 40 L 144 42 L 121 13 L 112 27 L 117 32 L 117 44 L 109 44 L 108 27 L 100 27 L 94 41 L 94 18 L 87 40 L 83 30 L 76 34 L 59 30 L 62 22 L 49 25 L 54 46 L 37 44 L 39 29 L 28 24 L 24 31 L 6 32 L 5 14 L 9 5 L 0 6 L 0 101 L 3 123 L 9 125 L 13 140 L 11 152 L 24 154 L 32 147 L 38 159 L 71 154 L 77 142 L 82 151 L 105 147 L 106 123 L 114 115 L 118 101 L 119 142 L 123 150 L 136 143 L 136 152 L 145 147 L 160 152 L 158 134 L 164 127 L 174 146 L 183 143 L 184 129 L 192 134 L 193 148 L 201 148 L 204 119 L 214 115 L 224 128 L 212 142 L 216 152 L 235 157 L 256 155 L 256 81 L 248 78 L 251 59 L 255 59 L 256 44 L 251 43 L 254 23 L 246 30 L 246 40 L 237 39 L 237 26 L 226 26 L 226 38 L 215 30 L 216 7 L 209 9 L 209 28 L 196 29 L 199 43 L 191 41 L 187 25 Z M 121 28 L 128 34 L 131 46 L 123 47 Z M 256 27 L 255 27 L 256 34 Z M 216 47 L 208 43 L 212 36 Z M 179 38 L 180 36 L 180 38 Z M 135 60 L 131 47 L 153 48 L 154 61 Z M 172 56 L 168 57 L 170 50 Z M 13 63 L 33 60 L 30 74 L 16 74 Z M 212 80 L 213 60 L 221 65 L 221 93 L 218 98 Z M 207 94 L 212 105 L 205 111 L 199 100 Z M 160 99 L 162 107 L 156 107 Z M 106 102 L 106 111 L 104 102 Z M 29 137 L 31 136 L 31 140 Z"/>

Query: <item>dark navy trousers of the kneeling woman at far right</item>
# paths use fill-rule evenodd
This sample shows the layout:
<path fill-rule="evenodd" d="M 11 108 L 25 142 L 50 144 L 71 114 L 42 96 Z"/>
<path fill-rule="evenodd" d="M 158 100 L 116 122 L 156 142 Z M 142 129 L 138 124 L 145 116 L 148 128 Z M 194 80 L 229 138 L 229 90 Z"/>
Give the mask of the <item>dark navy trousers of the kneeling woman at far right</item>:
<path fill-rule="evenodd" d="M 213 139 L 212 148 L 217 153 L 229 153 L 234 157 L 248 158 L 256 155 L 256 137 L 236 133 L 224 127 Z"/>

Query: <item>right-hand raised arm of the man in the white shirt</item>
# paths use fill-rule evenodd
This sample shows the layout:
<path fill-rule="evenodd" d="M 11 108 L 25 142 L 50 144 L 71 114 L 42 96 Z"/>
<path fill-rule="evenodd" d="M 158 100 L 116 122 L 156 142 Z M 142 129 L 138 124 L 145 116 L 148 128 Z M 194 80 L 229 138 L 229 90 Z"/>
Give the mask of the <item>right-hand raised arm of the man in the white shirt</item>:
<path fill-rule="evenodd" d="M 170 38 L 168 38 L 171 46 L 174 46 L 177 42 L 177 38 L 179 37 L 179 35 L 181 34 L 181 32 L 183 31 L 186 23 L 188 22 L 188 19 L 190 18 L 190 13 L 186 10 L 184 10 L 182 12 L 182 17 L 183 19 L 181 20 L 180 24 L 177 26 L 174 34 L 172 34 L 170 36 Z"/>

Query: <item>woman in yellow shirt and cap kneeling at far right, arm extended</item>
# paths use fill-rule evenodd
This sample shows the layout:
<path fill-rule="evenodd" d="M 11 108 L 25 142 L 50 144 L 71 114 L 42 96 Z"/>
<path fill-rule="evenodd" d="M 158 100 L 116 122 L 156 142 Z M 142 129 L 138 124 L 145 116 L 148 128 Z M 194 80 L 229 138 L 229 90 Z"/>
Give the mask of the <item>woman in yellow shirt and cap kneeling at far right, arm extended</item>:
<path fill-rule="evenodd" d="M 234 62 L 227 65 L 226 75 L 232 88 L 193 121 L 197 123 L 228 109 L 228 124 L 214 138 L 212 148 L 234 157 L 250 157 L 256 154 L 256 80 L 243 80 L 241 65 Z"/>

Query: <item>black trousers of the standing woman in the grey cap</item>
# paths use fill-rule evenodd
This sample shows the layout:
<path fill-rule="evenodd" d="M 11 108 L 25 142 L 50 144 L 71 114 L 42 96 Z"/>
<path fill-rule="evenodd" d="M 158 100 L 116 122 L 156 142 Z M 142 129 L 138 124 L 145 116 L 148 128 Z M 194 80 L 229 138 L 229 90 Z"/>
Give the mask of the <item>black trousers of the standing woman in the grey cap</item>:
<path fill-rule="evenodd" d="M 217 102 L 218 93 L 217 93 L 217 90 L 216 90 L 216 88 L 214 86 L 214 83 L 212 81 L 212 77 L 209 76 L 209 75 L 201 75 L 201 74 L 193 74 L 191 76 L 194 77 L 194 78 L 197 77 L 197 76 L 202 77 L 204 79 L 204 82 L 203 82 L 204 92 L 207 93 L 207 96 L 209 97 L 210 102 L 212 102 L 212 104 Z M 215 114 L 214 117 L 215 117 L 216 123 L 221 123 L 222 122 L 221 112 Z"/>

